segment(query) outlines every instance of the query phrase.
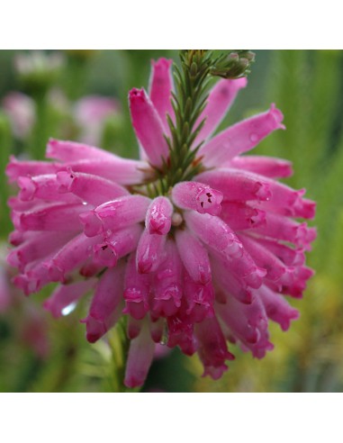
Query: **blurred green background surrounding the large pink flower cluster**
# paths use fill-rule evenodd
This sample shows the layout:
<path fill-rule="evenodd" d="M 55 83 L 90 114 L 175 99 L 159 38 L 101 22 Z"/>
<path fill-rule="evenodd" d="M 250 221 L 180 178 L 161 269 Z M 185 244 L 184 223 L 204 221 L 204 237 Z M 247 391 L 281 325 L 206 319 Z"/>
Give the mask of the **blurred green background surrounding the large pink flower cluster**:
<path fill-rule="evenodd" d="M 316 275 L 303 299 L 291 301 L 301 312 L 300 320 L 287 332 L 270 325 L 275 350 L 263 360 L 232 347 L 236 360 L 214 382 L 201 377 L 197 357 L 184 357 L 177 349 L 163 357 L 162 349 L 145 391 L 343 390 L 343 51 L 257 50 L 256 54 L 248 87 L 239 93 L 221 128 L 265 111 L 271 103 L 283 111 L 287 130 L 269 136 L 255 152 L 292 160 L 294 175 L 287 183 L 306 187 L 306 196 L 318 203 L 312 224 L 319 235 L 308 254 L 308 265 Z M 41 307 L 49 290 L 27 299 L 8 286 L 13 270 L 5 266 L 5 242 L 12 228 L 5 202 L 11 189 L 4 169 L 10 154 L 43 158 L 49 137 L 91 138 L 104 149 L 137 157 L 127 95 L 131 87 L 148 87 L 150 60 L 160 57 L 177 60 L 177 51 L 0 50 L 1 392 L 113 388 L 111 371 L 118 362 L 113 362 L 103 343 L 86 342 L 78 321 L 85 315 L 85 305 L 55 321 Z M 14 91 L 26 96 L 25 105 L 15 101 L 18 96 L 10 94 Z M 80 99 L 89 95 L 109 97 L 109 111 L 87 114 L 84 106 L 82 114 L 85 101 Z"/>

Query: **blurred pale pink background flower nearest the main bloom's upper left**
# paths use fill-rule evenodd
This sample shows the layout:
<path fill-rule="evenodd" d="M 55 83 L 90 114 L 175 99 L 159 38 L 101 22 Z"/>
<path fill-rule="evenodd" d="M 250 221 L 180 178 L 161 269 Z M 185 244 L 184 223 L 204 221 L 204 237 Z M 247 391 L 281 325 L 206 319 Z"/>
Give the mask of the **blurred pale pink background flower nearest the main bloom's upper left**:
<path fill-rule="evenodd" d="M 75 118 L 81 128 L 81 140 L 96 144 L 101 140 L 101 132 L 107 118 L 120 112 L 118 102 L 110 97 L 88 95 L 75 104 Z"/>

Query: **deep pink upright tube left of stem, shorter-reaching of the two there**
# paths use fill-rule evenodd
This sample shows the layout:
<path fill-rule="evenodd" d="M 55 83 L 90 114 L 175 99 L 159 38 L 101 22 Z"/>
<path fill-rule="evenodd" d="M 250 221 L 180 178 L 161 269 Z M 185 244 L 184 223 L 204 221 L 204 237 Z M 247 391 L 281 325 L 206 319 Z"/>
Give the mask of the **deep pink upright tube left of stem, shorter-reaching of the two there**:
<path fill-rule="evenodd" d="M 169 151 L 158 112 L 144 89 L 132 89 L 129 102 L 132 125 L 137 138 L 147 153 L 150 163 L 160 167 L 163 159 L 167 159 Z"/>

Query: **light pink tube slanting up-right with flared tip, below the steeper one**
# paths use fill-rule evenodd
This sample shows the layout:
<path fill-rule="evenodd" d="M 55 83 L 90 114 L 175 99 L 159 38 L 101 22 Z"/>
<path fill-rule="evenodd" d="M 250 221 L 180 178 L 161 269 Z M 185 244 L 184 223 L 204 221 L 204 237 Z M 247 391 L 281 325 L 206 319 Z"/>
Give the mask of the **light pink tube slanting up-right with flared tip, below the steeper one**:
<path fill-rule="evenodd" d="M 220 167 L 243 152 L 253 149 L 276 129 L 285 129 L 281 123 L 284 115 L 272 104 L 269 111 L 260 113 L 243 122 L 239 122 L 229 129 L 222 131 L 200 149 L 203 164 L 206 167 Z"/>

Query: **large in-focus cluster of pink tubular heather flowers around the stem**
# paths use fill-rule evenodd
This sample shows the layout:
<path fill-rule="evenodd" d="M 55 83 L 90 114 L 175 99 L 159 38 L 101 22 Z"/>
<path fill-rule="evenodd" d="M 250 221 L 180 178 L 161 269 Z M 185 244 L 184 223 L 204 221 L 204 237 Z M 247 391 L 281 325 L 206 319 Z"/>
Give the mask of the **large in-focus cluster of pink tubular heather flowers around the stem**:
<path fill-rule="evenodd" d="M 32 294 L 58 282 L 45 303 L 54 317 L 91 292 L 90 342 L 126 315 L 127 386 L 144 383 L 166 330 L 167 347 L 197 352 L 204 375 L 217 379 L 233 359 L 228 340 L 261 358 L 273 348 L 268 321 L 287 330 L 298 317 L 284 295 L 302 296 L 312 275 L 304 251 L 316 233 L 295 219 L 313 218 L 315 203 L 277 181 L 292 174 L 288 161 L 241 156 L 284 129 L 283 114 L 273 104 L 212 135 L 246 84 L 212 88 L 195 140 L 204 140 L 203 172 L 164 195 L 150 198 L 145 184 L 151 165 L 168 162 L 166 113 L 175 116 L 166 59 L 153 64 L 149 93 L 129 95 L 140 160 L 50 140 L 52 162 L 12 158 L 7 167 L 20 188 L 9 202 L 16 285 Z"/>

